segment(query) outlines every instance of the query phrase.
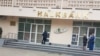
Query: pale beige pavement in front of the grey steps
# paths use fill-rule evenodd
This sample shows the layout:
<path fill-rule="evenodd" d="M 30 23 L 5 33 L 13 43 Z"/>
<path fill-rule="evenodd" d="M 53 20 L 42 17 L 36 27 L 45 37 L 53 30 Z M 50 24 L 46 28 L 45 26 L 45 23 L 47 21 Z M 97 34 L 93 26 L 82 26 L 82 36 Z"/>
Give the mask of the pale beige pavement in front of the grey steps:
<path fill-rule="evenodd" d="M 72 56 L 72 55 L 43 52 L 36 50 L 0 47 L 0 56 Z"/>

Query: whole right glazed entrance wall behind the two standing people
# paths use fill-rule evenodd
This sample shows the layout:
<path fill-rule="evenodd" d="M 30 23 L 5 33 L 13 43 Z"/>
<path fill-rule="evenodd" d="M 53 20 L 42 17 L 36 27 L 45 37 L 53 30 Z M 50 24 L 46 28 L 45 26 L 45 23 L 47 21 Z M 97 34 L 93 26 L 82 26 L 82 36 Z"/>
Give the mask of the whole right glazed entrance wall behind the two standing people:
<path fill-rule="evenodd" d="M 95 47 L 100 48 L 100 22 L 90 21 L 74 21 L 72 45 L 83 46 L 83 35 L 86 34 L 89 38 L 90 34 L 95 35 Z M 74 37 L 73 37 L 74 36 Z"/>

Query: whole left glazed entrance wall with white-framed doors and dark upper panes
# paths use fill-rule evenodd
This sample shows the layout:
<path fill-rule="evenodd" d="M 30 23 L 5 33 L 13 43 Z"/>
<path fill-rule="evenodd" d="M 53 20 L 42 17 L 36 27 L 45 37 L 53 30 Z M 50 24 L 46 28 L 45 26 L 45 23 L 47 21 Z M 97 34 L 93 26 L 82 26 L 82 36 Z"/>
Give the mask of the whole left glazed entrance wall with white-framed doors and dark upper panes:
<path fill-rule="evenodd" d="M 20 18 L 18 40 L 35 44 L 41 43 L 43 31 L 46 30 L 48 33 L 50 33 L 50 29 L 51 20 Z"/>

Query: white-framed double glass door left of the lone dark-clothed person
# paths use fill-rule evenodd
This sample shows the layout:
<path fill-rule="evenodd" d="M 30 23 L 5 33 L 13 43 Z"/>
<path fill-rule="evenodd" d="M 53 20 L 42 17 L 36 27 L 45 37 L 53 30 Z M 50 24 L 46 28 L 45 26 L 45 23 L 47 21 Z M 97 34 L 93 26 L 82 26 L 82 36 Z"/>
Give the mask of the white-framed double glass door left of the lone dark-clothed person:
<path fill-rule="evenodd" d="M 41 43 L 43 29 L 44 29 L 44 27 L 41 24 L 32 24 L 31 25 L 30 42 Z"/>

